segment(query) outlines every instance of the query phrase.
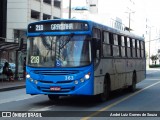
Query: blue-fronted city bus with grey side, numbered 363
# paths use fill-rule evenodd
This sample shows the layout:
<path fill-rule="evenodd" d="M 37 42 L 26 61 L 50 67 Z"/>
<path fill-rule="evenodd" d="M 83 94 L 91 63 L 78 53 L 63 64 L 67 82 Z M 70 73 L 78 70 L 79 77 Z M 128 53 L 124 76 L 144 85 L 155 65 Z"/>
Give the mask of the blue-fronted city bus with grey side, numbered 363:
<path fill-rule="evenodd" d="M 26 93 L 97 95 L 128 88 L 145 79 L 144 38 L 90 20 L 45 20 L 27 32 Z"/>

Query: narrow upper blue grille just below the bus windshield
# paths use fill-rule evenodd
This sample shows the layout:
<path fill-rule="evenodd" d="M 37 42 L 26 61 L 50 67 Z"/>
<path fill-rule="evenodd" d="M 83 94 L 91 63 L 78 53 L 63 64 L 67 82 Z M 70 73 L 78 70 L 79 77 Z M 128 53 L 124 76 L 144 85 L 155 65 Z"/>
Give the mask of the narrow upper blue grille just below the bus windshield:
<path fill-rule="evenodd" d="M 69 75 L 69 74 L 76 74 L 79 71 L 77 70 L 35 70 L 35 74 L 41 74 L 41 75 Z"/>

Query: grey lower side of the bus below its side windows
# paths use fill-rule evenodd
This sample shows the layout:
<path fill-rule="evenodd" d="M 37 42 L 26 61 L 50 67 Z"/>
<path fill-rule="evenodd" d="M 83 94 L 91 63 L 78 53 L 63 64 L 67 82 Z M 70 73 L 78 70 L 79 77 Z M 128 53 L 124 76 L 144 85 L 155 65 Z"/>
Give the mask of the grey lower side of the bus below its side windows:
<path fill-rule="evenodd" d="M 102 70 L 102 74 L 100 74 Z M 104 77 L 110 75 L 111 91 L 132 85 L 133 72 L 137 83 L 145 79 L 145 61 L 141 59 L 101 59 L 94 71 L 94 94 L 103 92 Z"/>

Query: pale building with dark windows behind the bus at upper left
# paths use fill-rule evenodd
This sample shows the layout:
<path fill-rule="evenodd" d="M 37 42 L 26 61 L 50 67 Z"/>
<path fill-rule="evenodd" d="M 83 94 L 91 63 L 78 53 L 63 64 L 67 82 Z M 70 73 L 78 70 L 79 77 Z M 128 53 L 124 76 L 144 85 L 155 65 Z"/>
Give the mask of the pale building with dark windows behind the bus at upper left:
<path fill-rule="evenodd" d="M 26 40 L 31 22 L 57 18 L 61 18 L 61 0 L 7 0 L 7 41 Z"/>

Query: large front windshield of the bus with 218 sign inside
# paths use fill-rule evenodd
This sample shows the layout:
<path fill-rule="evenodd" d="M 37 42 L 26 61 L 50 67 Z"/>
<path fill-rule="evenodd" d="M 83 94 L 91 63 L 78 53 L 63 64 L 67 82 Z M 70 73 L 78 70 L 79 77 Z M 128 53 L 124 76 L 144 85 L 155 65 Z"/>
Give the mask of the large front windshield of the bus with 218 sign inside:
<path fill-rule="evenodd" d="M 91 63 L 87 35 L 38 36 L 27 40 L 27 65 L 33 67 L 79 67 Z"/>

